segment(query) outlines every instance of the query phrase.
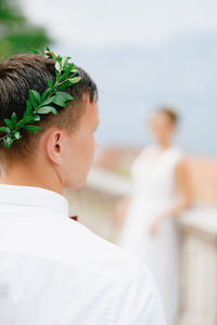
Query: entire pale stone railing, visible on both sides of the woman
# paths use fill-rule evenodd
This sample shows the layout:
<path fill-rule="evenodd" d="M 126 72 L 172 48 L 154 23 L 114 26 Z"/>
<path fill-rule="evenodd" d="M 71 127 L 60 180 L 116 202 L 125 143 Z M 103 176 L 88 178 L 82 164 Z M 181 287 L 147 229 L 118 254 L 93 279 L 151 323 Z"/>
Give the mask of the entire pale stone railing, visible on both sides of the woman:
<path fill-rule="evenodd" d="M 130 193 L 130 181 L 93 169 L 85 191 L 66 191 L 71 214 L 105 239 L 116 243 L 114 209 Z M 217 207 L 195 207 L 180 218 L 180 325 L 217 325 Z"/>

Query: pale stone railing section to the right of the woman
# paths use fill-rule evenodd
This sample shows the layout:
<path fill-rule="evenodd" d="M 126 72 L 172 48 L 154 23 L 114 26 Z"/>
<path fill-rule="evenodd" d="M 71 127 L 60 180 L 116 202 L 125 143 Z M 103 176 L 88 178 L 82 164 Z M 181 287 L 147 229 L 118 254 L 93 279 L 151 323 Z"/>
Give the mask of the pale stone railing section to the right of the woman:
<path fill-rule="evenodd" d="M 180 218 L 180 325 L 217 324 L 217 208 L 197 207 Z"/>

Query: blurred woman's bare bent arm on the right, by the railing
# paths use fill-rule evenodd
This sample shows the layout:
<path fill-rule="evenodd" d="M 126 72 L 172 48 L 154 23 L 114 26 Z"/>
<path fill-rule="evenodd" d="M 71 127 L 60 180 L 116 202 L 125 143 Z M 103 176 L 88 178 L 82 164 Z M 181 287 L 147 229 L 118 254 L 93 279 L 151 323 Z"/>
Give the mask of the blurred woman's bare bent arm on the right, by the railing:
<path fill-rule="evenodd" d="M 167 218 L 179 217 L 179 213 L 184 209 L 191 207 L 192 204 L 192 191 L 191 191 L 191 177 L 187 160 L 180 160 L 175 167 L 175 178 L 177 188 L 181 194 L 179 203 L 170 210 L 158 216 L 151 226 L 151 234 L 154 235 L 158 225 Z"/>

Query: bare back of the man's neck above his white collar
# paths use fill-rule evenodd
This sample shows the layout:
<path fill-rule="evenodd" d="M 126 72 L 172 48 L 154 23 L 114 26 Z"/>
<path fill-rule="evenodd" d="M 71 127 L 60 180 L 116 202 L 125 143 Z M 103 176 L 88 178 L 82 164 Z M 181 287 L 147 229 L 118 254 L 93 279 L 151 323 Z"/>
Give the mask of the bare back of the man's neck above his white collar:
<path fill-rule="evenodd" d="M 36 186 L 63 194 L 63 185 L 54 168 L 36 161 L 1 167 L 1 184 Z"/>

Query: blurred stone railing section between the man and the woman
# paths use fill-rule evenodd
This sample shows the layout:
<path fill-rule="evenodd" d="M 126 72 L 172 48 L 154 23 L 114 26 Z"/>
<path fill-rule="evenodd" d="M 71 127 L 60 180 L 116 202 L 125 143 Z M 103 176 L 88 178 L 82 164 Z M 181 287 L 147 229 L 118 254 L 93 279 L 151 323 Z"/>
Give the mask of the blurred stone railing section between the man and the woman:
<path fill-rule="evenodd" d="M 129 192 L 129 180 L 93 168 L 88 177 L 87 188 L 80 192 L 65 191 L 65 197 L 72 216 L 78 214 L 79 222 L 115 243 L 118 234 L 113 226 L 114 209 L 118 200 Z"/>

